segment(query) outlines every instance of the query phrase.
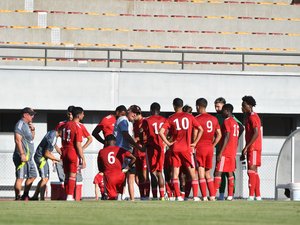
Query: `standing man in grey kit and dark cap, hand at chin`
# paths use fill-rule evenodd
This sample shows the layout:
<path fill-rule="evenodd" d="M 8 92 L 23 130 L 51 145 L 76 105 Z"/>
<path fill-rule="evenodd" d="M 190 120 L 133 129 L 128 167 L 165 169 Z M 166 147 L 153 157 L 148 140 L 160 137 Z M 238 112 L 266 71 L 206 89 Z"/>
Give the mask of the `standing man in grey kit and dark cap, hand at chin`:
<path fill-rule="evenodd" d="M 35 114 L 36 113 L 33 109 L 29 107 L 22 109 L 22 117 L 15 125 L 15 151 L 13 154 L 13 161 L 16 167 L 16 182 L 14 185 L 16 200 L 29 199 L 29 190 L 33 181 L 37 177 L 37 171 L 33 161 L 33 139 L 35 136 L 35 128 L 32 124 L 32 120 Z M 25 188 L 21 197 L 22 183 L 24 179 L 26 179 Z"/>

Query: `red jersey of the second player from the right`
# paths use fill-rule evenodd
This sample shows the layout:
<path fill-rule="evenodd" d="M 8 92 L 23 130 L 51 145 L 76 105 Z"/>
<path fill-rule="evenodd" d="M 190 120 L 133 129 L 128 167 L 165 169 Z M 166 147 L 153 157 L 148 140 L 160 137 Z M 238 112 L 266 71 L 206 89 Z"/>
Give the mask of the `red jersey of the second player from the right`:
<path fill-rule="evenodd" d="M 224 139 L 227 133 L 229 133 L 229 140 L 227 142 L 227 145 L 222 152 L 222 156 L 225 157 L 234 157 L 236 155 L 238 141 L 239 141 L 239 125 L 235 121 L 233 117 L 228 117 L 224 120 L 224 123 L 222 125 L 222 139 L 221 139 L 221 145 L 223 146 Z"/>

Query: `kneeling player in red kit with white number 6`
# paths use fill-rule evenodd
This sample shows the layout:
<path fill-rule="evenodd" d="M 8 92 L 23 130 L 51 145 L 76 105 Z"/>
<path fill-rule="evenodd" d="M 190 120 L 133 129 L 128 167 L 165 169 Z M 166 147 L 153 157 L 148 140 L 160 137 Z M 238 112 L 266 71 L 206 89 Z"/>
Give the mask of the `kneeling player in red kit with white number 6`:
<path fill-rule="evenodd" d="M 123 193 L 126 172 L 133 166 L 136 158 L 123 148 L 116 146 L 114 135 L 105 138 L 105 147 L 98 153 L 98 169 L 104 173 L 104 182 L 108 200 L 116 200 L 118 193 Z M 130 159 L 130 163 L 122 170 L 125 158 Z"/>

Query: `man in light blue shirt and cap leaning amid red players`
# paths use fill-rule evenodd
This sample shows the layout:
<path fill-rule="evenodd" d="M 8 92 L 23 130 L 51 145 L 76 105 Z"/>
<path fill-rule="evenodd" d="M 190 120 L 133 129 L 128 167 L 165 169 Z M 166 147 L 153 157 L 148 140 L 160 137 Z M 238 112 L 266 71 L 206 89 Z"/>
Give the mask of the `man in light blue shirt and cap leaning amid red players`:
<path fill-rule="evenodd" d="M 133 152 L 133 147 L 144 151 L 144 149 L 138 145 L 134 140 L 133 135 L 133 124 L 137 113 L 141 111 L 141 108 L 137 105 L 132 105 L 127 110 L 126 116 L 121 116 L 118 118 L 115 125 L 114 136 L 116 137 L 116 145 Z M 125 161 L 126 162 L 126 161 Z M 126 162 L 128 165 L 128 161 Z M 134 200 L 134 180 L 135 180 L 135 168 L 133 167 L 127 173 L 127 182 L 128 182 L 128 192 L 130 200 Z"/>

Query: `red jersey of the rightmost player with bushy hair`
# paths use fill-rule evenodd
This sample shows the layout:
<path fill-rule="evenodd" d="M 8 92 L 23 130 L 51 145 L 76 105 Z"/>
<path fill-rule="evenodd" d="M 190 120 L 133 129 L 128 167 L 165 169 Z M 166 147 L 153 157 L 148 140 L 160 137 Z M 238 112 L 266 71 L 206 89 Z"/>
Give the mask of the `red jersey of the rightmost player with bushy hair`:
<path fill-rule="evenodd" d="M 246 145 L 250 142 L 254 134 L 254 128 L 258 130 L 258 137 L 254 141 L 254 143 L 249 147 L 249 150 L 262 150 L 262 135 L 261 135 L 261 121 L 257 113 L 252 112 L 250 115 L 247 116 L 245 121 L 245 138 L 246 138 Z"/>

